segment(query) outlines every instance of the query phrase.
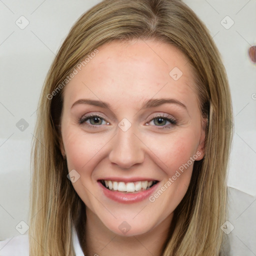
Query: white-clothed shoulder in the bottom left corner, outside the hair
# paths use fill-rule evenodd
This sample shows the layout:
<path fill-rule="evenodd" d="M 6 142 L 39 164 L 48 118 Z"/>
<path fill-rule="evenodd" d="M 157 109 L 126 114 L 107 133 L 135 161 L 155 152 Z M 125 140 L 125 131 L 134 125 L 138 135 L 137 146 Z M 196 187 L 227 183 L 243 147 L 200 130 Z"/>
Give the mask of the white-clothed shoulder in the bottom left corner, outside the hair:
<path fill-rule="evenodd" d="M 29 256 L 28 234 L 0 241 L 0 256 Z"/>

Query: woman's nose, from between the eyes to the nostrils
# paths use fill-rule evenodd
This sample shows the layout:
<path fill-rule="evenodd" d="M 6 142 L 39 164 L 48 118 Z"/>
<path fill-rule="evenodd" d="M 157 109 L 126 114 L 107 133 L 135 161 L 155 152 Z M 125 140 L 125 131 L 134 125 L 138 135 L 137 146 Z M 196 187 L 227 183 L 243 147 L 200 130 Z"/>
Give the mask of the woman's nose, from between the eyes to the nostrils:
<path fill-rule="evenodd" d="M 111 152 L 108 157 L 112 163 L 123 169 L 144 161 L 143 142 L 134 133 L 132 125 L 126 131 L 117 127 L 117 133 L 113 138 Z"/>

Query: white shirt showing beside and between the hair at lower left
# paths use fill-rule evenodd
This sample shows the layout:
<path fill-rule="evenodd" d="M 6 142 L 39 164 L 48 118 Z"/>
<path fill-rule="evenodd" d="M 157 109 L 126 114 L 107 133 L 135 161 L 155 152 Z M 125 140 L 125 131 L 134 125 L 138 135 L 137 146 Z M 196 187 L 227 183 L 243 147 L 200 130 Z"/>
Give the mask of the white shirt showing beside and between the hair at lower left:
<path fill-rule="evenodd" d="M 72 241 L 75 255 L 84 256 L 74 228 Z M 28 234 L 17 235 L 0 241 L 0 256 L 29 256 Z"/>

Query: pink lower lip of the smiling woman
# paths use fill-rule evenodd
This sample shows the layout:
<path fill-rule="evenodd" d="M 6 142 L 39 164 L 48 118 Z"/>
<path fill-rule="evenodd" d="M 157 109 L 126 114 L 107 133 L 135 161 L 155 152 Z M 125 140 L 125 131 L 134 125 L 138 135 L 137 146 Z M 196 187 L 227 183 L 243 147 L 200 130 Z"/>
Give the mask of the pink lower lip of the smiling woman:
<path fill-rule="evenodd" d="M 98 181 L 98 183 L 99 183 L 99 186 L 101 187 L 104 195 L 107 196 L 108 198 L 110 198 L 114 201 L 117 201 L 117 202 L 133 203 L 133 202 L 142 201 L 145 198 L 149 197 L 149 195 L 151 193 L 153 193 L 153 191 L 156 189 L 159 182 L 157 182 L 156 184 L 151 186 L 149 189 L 146 189 L 141 192 L 135 192 L 135 193 L 126 193 L 126 192 L 124 193 L 124 192 L 120 192 L 120 191 L 112 191 L 112 190 L 109 190 L 108 188 L 106 188 L 105 186 L 103 186 L 99 181 Z"/>

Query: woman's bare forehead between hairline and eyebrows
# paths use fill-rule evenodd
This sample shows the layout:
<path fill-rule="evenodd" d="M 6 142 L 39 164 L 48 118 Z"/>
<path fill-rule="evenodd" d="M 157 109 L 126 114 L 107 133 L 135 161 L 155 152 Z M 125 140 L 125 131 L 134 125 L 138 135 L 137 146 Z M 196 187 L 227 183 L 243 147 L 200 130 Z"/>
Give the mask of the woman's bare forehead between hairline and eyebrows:
<path fill-rule="evenodd" d="M 82 97 L 129 107 L 158 97 L 196 102 L 188 59 L 164 42 L 112 41 L 98 47 L 98 53 L 77 71 L 64 88 L 68 104 Z"/>

